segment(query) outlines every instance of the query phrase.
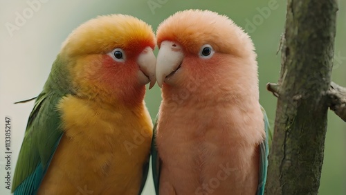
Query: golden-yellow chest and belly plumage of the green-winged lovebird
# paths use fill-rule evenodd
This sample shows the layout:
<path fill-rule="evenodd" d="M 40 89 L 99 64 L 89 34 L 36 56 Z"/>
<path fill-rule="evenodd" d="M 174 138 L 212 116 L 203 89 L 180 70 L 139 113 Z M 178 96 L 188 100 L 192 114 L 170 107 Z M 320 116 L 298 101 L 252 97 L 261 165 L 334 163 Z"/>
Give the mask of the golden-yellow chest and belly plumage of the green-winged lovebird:
<path fill-rule="evenodd" d="M 39 194 L 138 194 L 152 140 L 144 106 L 113 110 L 68 97 L 60 109 L 64 136 Z"/>

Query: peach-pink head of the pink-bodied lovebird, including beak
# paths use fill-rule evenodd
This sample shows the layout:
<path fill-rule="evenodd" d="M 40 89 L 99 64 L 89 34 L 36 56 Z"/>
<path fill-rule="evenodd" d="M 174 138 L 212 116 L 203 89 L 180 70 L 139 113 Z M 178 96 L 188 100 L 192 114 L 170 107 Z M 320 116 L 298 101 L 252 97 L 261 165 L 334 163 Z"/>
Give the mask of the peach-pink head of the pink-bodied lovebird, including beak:
<path fill-rule="evenodd" d="M 156 37 L 156 80 L 163 92 L 256 90 L 253 42 L 228 17 L 209 10 L 176 12 L 158 26 Z"/>

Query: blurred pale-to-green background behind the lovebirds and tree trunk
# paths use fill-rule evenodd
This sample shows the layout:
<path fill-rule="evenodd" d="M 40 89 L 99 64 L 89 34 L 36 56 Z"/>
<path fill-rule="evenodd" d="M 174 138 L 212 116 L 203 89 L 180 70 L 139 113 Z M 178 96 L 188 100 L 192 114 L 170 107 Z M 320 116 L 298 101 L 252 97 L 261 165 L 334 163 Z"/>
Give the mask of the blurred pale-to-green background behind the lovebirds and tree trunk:
<path fill-rule="evenodd" d="M 35 9 L 28 2 L 39 2 Z M 346 86 L 346 1 L 340 0 L 335 53 L 338 58 L 334 65 L 332 79 Z M 39 6 L 38 6 L 39 5 Z M 277 82 L 280 74 L 280 35 L 284 29 L 286 1 L 1 1 L 0 2 L 0 128 L 4 129 L 3 118 L 12 118 L 12 169 L 15 168 L 26 121 L 33 107 L 27 104 L 12 104 L 18 100 L 34 97 L 41 90 L 51 64 L 60 50 L 62 41 L 69 33 L 97 15 L 122 13 L 133 15 L 152 25 L 156 30 L 163 19 L 174 12 L 190 8 L 208 9 L 227 15 L 251 35 L 256 47 L 260 75 L 260 102 L 267 111 L 273 126 L 276 98 L 266 91 L 267 82 Z M 30 12 L 30 10 L 32 11 Z M 270 10 L 270 12 L 264 12 Z M 6 25 L 15 25 L 18 15 L 25 15 L 26 21 L 10 32 Z M 215 29 L 217 30 L 217 29 Z M 12 35 L 11 35 L 12 34 Z M 157 49 L 156 49 L 157 52 Z M 311 73 L 315 70 L 311 70 Z M 145 97 L 152 115 L 156 116 L 161 102 L 160 89 L 147 91 Z M 319 194 L 346 194 L 346 125 L 329 111 L 325 161 Z M 1 130 L 2 132 L 3 130 Z M 4 154 L 4 138 L 1 133 L 0 151 Z M 5 161 L 0 158 L 0 194 L 10 194 L 4 187 Z M 13 174 L 13 172 L 12 172 Z M 154 194 L 152 176 L 149 175 L 145 192 Z"/>

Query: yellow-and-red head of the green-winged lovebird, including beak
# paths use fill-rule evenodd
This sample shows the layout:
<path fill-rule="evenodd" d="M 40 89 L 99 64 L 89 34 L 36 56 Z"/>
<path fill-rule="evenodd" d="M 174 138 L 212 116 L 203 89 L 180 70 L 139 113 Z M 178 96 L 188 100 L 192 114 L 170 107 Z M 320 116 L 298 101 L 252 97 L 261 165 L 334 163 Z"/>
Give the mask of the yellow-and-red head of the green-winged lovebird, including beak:
<path fill-rule="evenodd" d="M 154 86 L 155 36 L 151 26 L 129 15 L 86 21 L 66 39 L 60 59 L 80 97 L 102 101 L 141 100 L 145 84 Z"/>

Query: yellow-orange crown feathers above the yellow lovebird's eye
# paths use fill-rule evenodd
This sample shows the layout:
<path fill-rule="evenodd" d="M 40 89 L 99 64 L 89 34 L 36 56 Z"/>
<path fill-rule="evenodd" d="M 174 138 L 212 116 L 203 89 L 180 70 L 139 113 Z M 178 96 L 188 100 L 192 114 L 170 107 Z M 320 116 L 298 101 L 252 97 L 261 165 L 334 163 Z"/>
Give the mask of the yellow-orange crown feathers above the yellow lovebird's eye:
<path fill-rule="evenodd" d="M 155 46 L 152 27 L 129 15 L 105 15 L 86 21 L 66 39 L 62 54 L 68 56 L 108 53 L 114 48 L 140 52 Z"/>

